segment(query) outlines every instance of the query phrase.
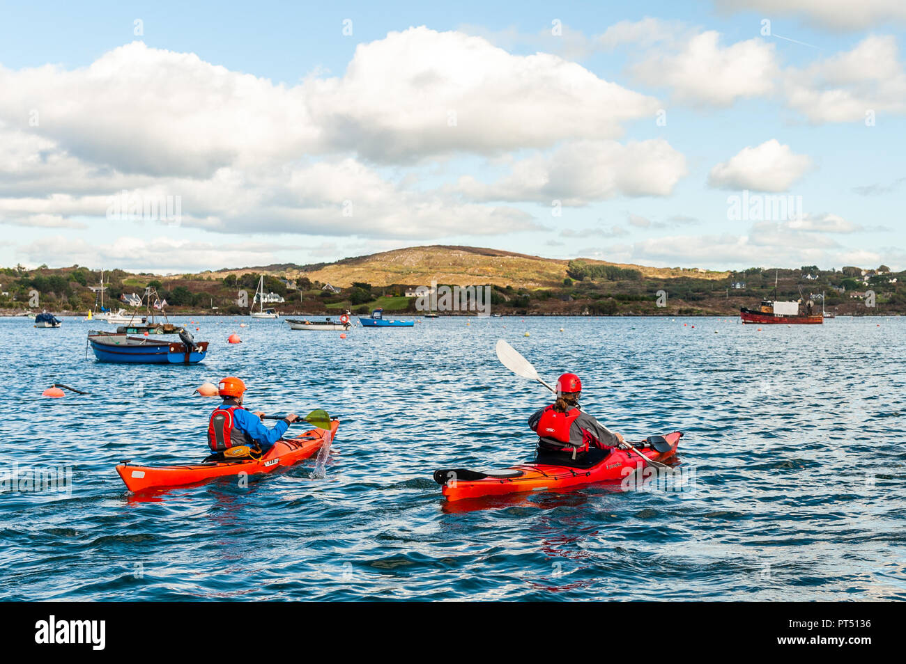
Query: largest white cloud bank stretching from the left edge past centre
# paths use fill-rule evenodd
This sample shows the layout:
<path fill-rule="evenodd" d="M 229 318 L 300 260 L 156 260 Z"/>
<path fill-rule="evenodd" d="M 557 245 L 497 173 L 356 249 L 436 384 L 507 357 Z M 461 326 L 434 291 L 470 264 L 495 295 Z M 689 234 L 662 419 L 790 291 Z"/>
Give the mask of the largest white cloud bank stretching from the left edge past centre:
<path fill-rule="evenodd" d="M 0 67 L 0 120 L 121 173 L 207 177 L 303 154 L 412 161 L 614 138 L 651 97 L 548 53 L 426 27 L 360 44 L 344 75 L 286 87 L 130 43 L 75 70 Z M 455 113 L 455 126 L 451 126 Z"/>

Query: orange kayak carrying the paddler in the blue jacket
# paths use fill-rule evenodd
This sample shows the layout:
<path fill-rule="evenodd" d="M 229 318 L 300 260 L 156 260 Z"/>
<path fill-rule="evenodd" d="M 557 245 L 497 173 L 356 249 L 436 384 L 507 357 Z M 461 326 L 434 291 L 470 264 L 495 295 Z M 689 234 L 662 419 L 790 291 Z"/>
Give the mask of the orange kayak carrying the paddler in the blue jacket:
<path fill-rule="evenodd" d="M 331 422 L 331 440 L 339 426 L 338 420 Z M 182 487 L 239 473 L 254 475 L 293 466 L 308 459 L 321 449 L 327 435 L 328 432 L 323 429 L 312 429 L 296 438 L 276 441 L 274 447 L 257 460 L 210 461 L 182 466 L 134 466 L 129 461 L 123 461 L 116 467 L 116 471 L 120 473 L 127 489 L 135 492 Z"/>

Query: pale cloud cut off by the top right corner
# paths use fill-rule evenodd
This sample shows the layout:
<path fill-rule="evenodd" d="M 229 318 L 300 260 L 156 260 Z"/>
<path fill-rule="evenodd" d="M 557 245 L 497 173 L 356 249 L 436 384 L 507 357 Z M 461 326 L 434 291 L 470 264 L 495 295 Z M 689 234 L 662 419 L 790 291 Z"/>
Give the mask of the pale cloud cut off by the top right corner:
<path fill-rule="evenodd" d="M 838 31 L 864 30 L 889 22 L 906 22 L 902 0 L 715 0 L 718 9 L 801 16 L 808 23 Z"/>

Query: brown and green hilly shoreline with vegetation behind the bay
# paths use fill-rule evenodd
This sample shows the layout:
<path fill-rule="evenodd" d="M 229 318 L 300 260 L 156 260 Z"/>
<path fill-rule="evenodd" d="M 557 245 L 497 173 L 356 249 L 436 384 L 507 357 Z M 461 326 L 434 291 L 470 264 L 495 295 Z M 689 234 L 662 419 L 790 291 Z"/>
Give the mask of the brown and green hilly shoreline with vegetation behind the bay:
<path fill-rule="evenodd" d="M 651 268 L 575 259 L 563 261 L 512 251 L 476 247 L 428 246 L 343 259 L 315 265 L 281 264 L 257 268 L 160 276 L 123 270 L 105 272 L 105 304 L 122 307 L 120 295 L 157 289 L 170 313 L 242 315 L 254 298 L 259 277 L 265 292 L 284 298 L 265 303 L 281 314 L 333 314 L 350 309 L 366 313 L 383 307 L 416 312 L 414 287 L 475 286 L 490 289 L 494 313 L 518 315 L 718 315 L 735 316 L 740 306 L 755 306 L 777 282 L 778 299 L 813 299 L 841 314 L 906 313 L 906 272 L 885 266 L 818 270 L 752 268 L 740 272 L 695 268 Z M 92 292 L 98 270 L 73 265 L 0 270 L 0 309 L 6 314 L 47 308 L 60 314 L 87 312 L 98 303 Z M 331 284 L 339 292 L 327 289 Z M 865 291 L 876 307 L 866 307 Z M 240 296 L 246 294 L 246 306 Z M 39 295 L 39 304 L 29 300 Z"/>

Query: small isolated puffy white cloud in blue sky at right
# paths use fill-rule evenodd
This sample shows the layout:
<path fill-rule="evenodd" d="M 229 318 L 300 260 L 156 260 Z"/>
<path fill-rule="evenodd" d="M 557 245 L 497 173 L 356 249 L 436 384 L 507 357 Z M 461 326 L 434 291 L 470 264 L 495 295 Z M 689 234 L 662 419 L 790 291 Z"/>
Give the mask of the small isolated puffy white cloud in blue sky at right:
<path fill-rule="evenodd" d="M 737 155 L 711 169 L 708 185 L 722 189 L 783 192 L 812 167 L 807 155 L 795 155 L 787 145 L 771 138 L 757 147 L 744 147 Z"/>

